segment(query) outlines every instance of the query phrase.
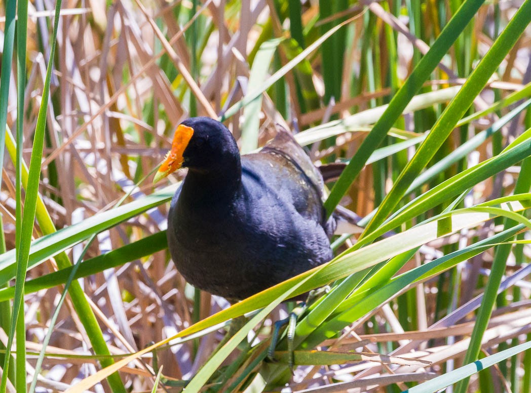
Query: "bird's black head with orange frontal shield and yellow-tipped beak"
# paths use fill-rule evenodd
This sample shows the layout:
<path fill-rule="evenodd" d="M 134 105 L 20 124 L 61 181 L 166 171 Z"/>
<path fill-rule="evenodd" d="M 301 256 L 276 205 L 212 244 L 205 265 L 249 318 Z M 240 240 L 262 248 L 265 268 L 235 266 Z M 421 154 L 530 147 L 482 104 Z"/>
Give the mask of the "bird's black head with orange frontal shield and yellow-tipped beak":
<path fill-rule="evenodd" d="M 155 174 L 153 182 L 179 168 L 208 171 L 227 159 L 239 159 L 238 146 L 222 123 L 209 117 L 193 117 L 177 126 L 172 149 Z"/>

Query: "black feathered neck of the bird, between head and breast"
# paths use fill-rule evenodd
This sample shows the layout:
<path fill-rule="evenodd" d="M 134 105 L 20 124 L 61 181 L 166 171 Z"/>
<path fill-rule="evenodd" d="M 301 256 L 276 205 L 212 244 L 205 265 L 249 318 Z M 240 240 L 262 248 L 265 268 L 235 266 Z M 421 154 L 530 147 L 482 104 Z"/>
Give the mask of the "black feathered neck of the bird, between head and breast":
<path fill-rule="evenodd" d="M 224 203 L 234 198 L 241 184 L 242 164 L 236 157 L 208 170 L 190 168 L 182 195 L 191 204 Z"/>

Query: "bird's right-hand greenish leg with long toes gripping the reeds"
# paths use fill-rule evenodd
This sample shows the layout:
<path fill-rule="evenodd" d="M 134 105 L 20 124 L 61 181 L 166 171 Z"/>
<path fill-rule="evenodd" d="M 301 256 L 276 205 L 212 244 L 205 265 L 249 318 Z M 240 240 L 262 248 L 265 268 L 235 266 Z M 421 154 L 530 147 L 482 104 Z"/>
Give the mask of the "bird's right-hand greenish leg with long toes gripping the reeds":
<path fill-rule="evenodd" d="M 280 328 L 287 325 L 286 328 L 286 340 L 288 344 L 288 366 L 292 370 L 294 362 L 294 339 L 295 339 L 295 328 L 297 326 L 297 318 L 304 314 L 308 306 L 313 303 L 315 300 L 319 299 L 324 293 L 330 292 L 330 286 L 326 285 L 318 289 L 310 291 L 306 301 L 303 301 L 295 307 L 292 312 L 289 313 L 289 316 L 285 319 L 281 319 L 275 322 L 275 328 L 273 328 L 273 334 L 271 335 L 271 344 L 269 345 L 268 358 L 272 361 L 275 361 L 275 348 L 278 343 L 278 337 L 280 333 Z"/>

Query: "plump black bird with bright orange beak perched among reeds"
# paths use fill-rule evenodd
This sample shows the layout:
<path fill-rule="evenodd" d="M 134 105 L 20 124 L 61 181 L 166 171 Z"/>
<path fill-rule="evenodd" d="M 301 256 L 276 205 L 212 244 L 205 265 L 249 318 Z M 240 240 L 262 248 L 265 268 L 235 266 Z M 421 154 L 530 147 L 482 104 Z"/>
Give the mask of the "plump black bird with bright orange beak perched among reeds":
<path fill-rule="evenodd" d="M 168 246 L 194 286 L 235 302 L 332 259 L 321 174 L 286 130 L 240 156 L 222 123 L 187 119 L 155 181 L 181 167 Z"/>

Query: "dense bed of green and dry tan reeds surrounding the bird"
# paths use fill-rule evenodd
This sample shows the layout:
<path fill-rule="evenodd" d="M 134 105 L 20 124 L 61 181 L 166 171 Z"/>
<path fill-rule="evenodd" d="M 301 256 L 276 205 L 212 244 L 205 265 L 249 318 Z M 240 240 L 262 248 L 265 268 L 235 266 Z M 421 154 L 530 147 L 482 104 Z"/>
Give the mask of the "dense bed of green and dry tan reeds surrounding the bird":
<path fill-rule="evenodd" d="M 531 391 L 531 0 L 4 5 L 1 393 Z M 325 206 L 359 230 L 232 307 L 194 289 L 185 174 L 151 184 L 191 116 L 348 163 Z M 327 284 L 292 374 L 271 327 Z"/>

